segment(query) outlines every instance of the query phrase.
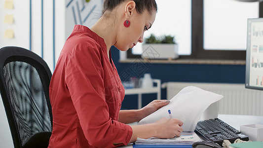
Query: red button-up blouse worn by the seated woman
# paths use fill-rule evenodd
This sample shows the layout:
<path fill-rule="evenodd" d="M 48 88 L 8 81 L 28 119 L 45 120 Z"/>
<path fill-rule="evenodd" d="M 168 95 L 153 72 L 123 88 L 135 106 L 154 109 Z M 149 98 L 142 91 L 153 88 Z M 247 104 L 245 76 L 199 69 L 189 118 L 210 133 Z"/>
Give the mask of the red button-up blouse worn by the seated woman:
<path fill-rule="evenodd" d="M 110 52 L 111 53 L 111 52 Z M 53 129 L 48 148 L 112 148 L 127 145 L 129 125 L 118 122 L 124 88 L 104 39 L 75 25 L 52 75 Z"/>

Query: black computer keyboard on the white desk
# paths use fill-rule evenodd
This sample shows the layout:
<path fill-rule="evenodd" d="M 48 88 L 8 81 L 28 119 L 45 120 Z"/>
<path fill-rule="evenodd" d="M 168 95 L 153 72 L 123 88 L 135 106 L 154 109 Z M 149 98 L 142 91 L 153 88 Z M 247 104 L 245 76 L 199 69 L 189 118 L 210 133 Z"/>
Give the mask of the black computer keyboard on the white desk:
<path fill-rule="evenodd" d="M 248 141 L 248 136 L 240 133 L 237 129 L 215 118 L 198 121 L 195 133 L 206 141 L 211 141 L 222 146 L 224 140 L 233 143 L 236 139 Z"/>

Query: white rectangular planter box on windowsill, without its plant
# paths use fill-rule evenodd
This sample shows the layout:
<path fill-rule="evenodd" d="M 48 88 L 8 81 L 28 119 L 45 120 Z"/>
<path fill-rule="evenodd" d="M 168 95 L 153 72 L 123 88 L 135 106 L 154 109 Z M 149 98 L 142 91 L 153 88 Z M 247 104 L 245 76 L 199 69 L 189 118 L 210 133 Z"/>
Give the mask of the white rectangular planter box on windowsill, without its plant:
<path fill-rule="evenodd" d="M 142 58 L 177 59 L 178 44 L 143 44 Z"/>

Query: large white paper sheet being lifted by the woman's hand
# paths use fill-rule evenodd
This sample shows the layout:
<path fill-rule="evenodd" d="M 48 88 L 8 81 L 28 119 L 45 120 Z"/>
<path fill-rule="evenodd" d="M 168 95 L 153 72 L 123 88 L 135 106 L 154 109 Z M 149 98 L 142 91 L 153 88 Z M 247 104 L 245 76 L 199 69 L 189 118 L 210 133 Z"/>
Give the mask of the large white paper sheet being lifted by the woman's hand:
<path fill-rule="evenodd" d="M 184 131 L 193 132 L 202 113 L 223 97 L 195 86 L 188 86 L 174 96 L 168 105 L 143 118 L 138 124 L 153 123 L 163 117 L 169 118 L 170 110 L 173 118 L 184 122 Z"/>

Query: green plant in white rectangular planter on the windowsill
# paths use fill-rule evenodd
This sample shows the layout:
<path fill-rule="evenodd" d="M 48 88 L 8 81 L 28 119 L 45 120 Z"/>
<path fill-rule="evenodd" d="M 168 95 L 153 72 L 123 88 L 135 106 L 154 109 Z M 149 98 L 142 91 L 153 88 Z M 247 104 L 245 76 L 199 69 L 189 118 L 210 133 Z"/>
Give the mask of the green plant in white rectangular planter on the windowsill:
<path fill-rule="evenodd" d="M 153 34 L 145 38 L 143 58 L 147 59 L 177 59 L 178 44 L 173 36 L 155 37 Z"/>

